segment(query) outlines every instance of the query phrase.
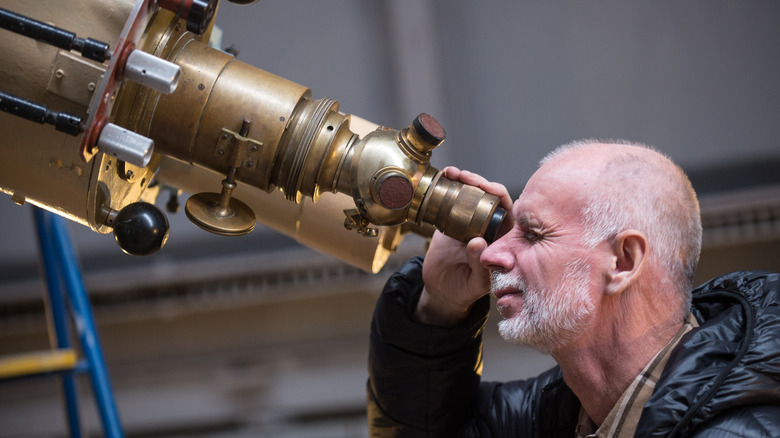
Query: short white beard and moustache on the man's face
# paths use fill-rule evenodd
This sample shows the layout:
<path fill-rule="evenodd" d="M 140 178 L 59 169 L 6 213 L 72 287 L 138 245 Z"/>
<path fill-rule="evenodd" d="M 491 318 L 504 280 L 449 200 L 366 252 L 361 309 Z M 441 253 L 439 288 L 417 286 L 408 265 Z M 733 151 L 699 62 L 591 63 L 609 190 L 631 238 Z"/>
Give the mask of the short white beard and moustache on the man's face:
<path fill-rule="evenodd" d="M 591 317 L 595 303 L 588 296 L 589 273 L 589 266 L 577 259 L 566 264 L 552 288 L 531 289 L 520 276 L 493 272 L 492 290 L 523 291 L 520 313 L 498 323 L 501 337 L 547 354 L 572 342 L 595 323 Z"/>

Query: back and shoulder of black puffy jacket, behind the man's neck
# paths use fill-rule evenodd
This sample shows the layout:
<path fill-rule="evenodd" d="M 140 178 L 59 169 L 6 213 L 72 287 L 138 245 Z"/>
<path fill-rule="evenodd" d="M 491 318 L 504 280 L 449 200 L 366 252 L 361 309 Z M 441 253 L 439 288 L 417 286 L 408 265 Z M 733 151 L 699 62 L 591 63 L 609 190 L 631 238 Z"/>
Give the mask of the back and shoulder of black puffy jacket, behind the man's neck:
<path fill-rule="evenodd" d="M 714 428 L 717 434 L 706 436 L 732 436 L 741 433 L 740 423 L 745 430 L 761 426 L 763 412 L 780 406 L 780 274 L 733 272 L 692 295 L 699 327 L 672 352 L 639 435 L 690 436 Z"/>

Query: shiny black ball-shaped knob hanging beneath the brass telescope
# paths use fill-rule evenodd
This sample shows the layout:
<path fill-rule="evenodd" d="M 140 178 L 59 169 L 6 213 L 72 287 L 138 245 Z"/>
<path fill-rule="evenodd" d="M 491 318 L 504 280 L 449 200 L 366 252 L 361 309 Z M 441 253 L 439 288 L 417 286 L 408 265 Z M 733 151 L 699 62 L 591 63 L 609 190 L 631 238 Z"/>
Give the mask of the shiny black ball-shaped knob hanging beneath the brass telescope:
<path fill-rule="evenodd" d="M 151 255 L 168 240 L 168 218 L 159 208 L 136 202 L 119 210 L 113 219 L 114 239 L 130 255 Z"/>

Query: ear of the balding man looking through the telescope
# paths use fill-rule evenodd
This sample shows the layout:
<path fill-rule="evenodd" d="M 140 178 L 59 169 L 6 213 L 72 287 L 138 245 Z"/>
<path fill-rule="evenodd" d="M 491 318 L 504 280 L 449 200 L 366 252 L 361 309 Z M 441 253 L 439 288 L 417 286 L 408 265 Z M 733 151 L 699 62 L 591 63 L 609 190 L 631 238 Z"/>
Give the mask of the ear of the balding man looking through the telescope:
<path fill-rule="evenodd" d="M 649 253 L 647 238 L 637 230 L 626 230 L 612 243 L 612 265 L 607 273 L 608 295 L 626 290 L 642 272 Z"/>

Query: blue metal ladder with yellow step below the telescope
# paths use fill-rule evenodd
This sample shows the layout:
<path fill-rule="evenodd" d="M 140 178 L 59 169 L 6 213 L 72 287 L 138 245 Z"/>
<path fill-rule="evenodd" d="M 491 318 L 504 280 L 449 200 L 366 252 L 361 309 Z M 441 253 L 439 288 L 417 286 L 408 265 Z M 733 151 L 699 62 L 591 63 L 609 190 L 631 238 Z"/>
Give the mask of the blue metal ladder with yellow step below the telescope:
<path fill-rule="evenodd" d="M 0 359 L 0 379 L 59 374 L 62 378 L 65 416 L 71 438 L 82 436 L 75 373 L 87 373 L 92 383 L 104 435 L 122 438 L 114 395 L 100 348 L 84 282 L 64 220 L 39 208 L 33 209 L 42 268 L 46 279 L 51 324 L 56 345 L 50 351 Z M 70 318 L 69 318 L 70 315 Z M 70 339 L 73 324 L 84 360 L 77 360 Z"/>

